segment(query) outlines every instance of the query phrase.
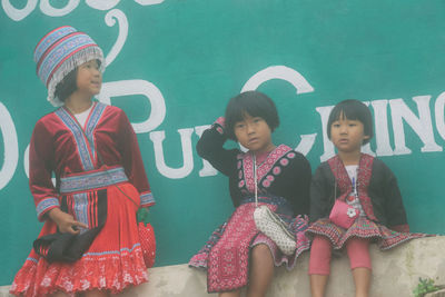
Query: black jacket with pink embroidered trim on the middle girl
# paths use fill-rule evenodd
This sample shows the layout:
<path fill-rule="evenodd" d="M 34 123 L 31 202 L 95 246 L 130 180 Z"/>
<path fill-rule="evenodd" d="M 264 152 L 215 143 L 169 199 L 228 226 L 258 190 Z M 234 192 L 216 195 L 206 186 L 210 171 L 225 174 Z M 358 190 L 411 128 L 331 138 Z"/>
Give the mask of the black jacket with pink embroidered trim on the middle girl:
<path fill-rule="evenodd" d="M 228 176 L 231 200 L 237 207 L 244 197 L 253 196 L 245 186 L 248 182 L 247 166 L 245 166 L 247 154 L 239 149 L 225 149 L 222 146 L 226 140 L 224 125 L 215 122 L 211 128 L 204 131 L 196 148 L 201 158 Z M 278 146 L 277 150 L 286 151 L 286 148 L 287 152 L 277 154 L 270 170 L 263 178 L 259 177 L 258 190 L 288 200 L 294 215 L 308 215 L 310 165 L 301 154 L 287 146 Z"/>

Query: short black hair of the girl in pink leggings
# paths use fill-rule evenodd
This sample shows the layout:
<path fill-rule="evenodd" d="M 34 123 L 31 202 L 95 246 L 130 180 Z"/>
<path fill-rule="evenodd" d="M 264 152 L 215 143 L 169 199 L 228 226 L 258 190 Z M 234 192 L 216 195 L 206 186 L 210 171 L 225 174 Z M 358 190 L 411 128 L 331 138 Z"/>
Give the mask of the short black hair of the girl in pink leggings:
<path fill-rule="evenodd" d="M 368 136 L 368 139 L 364 139 L 363 143 L 369 142 L 374 136 L 373 129 L 373 116 L 370 115 L 369 108 L 362 101 L 355 99 L 343 100 L 337 103 L 330 111 L 329 119 L 327 121 L 327 137 L 330 139 L 330 126 L 333 122 L 338 120 L 340 116 L 346 117 L 348 120 L 358 120 L 363 123 L 364 135 Z"/>

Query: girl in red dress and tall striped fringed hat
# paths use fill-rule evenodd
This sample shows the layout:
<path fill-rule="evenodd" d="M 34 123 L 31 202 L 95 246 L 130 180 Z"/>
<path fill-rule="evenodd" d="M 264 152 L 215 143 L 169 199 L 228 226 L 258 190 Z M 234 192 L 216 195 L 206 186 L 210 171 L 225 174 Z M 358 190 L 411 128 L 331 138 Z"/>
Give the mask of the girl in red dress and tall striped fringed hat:
<path fill-rule="evenodd" d="M 61 107 L 32 132 L 29 185 L 44 225 L 11 293 L 108 296 L 147 281 L 136 211 L 155 200 L 127 116 L 91 100 L 102 82 L 101 49 L 65 26 L 42 38 L 34 61 L 48 100 Z"/>

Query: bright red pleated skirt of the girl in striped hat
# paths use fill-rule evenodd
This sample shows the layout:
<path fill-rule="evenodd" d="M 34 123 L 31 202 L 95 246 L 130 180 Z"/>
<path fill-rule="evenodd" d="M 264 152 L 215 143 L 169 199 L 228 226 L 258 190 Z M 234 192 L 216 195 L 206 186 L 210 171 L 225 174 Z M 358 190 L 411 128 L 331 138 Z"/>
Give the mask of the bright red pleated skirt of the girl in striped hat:
<path fill-rule="evenodd" d="M 136 188 L 119 188 L 139 204 Z M 137 207 L 116 186 L 107 188 L 107 220 L 88 250 L 76 263 L 51 263 L 31 250 L 16 275 L 10 293 L 43 297 L 56 291 L 70 296 L 86 290 L 122 291 L 148 280 L 136 222 Z M 47 220 L 39 235 L 53 234 L 57 226 Z"/>

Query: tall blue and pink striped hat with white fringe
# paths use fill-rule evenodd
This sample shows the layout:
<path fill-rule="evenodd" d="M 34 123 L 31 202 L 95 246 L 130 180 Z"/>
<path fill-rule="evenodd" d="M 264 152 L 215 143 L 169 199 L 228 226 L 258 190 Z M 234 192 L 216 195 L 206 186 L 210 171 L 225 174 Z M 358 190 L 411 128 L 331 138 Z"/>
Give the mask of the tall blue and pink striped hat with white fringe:
<path fill-rule="evenodd" d="M 37 75 L 48 88 L 48 101 L 55 107 L 63 102 L 55 97 L 56 86 L 80 65 L 90 60 L 100 61 L 105 70 L 102 50 L 86 33 L 70 26 L 59 27 L 46 34 L 34 49 Z"/>

